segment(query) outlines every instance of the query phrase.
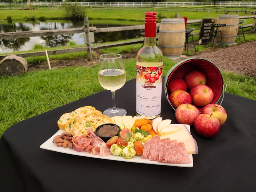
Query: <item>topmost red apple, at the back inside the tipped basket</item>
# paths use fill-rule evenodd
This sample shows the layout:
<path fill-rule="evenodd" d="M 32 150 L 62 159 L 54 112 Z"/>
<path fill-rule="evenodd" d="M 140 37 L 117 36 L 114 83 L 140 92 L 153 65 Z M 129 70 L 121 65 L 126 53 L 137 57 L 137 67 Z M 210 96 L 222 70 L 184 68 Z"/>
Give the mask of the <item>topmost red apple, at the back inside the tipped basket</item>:
<path fill-rule="evenodd" d="M 184 80 L 188 86 L 188 89 L 192 89 L 192 87 L 197 84 L 206 84 L 206 76 L 202 71 L 199 70 L 189 71 L 185 75 Z"/>

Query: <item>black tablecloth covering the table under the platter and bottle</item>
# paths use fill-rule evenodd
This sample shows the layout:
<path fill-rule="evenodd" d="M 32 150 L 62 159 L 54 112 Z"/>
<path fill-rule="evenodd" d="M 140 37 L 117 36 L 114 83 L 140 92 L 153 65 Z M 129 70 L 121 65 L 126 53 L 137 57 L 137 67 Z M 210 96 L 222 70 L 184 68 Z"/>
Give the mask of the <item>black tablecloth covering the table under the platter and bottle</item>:
<path fill-rule="evenodd" d="M 116 106 L 135 116 L 135 79 L 116 91 Z M 256 101 L 224 94 L 228 119 L 212 139 L 191 127 L 199 153 L 192 168 L 127 163 L 73 156 L 39 148 L 55 132 L 66 112 L 91 105 L 111 107 L 104 90 L 8 128 L 0 139 L 1 191 L 255 191 Z M 163 119 L 177 123 L 162 94 Z"/>

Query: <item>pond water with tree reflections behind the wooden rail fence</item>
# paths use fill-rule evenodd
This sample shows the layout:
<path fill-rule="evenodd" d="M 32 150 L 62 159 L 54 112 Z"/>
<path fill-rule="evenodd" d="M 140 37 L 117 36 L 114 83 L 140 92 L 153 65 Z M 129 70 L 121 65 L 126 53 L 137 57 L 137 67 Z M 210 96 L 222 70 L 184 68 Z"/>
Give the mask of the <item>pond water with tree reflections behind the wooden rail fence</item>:
<path fill-rule="evenodd" d="M 138 24 L 140 25 L 140 24 Z M 18 32 L 18 31 L 39 31 L 48 29 L 67 29 L 83 27 L 84 22 L 72 23 L 68 21 L 63 22 L 26 22 L 26 23 L 0 23 L 0 33 Z M 90 24 L 92 26 L 92 24 Z M 93 27 L 118 27 L 124 26 L 120 24 L 93 24 Z M 129 31 L 114 31 L 94 33 L 95 43 L 113 42 L 118 40 L 125 40 L 131 38 L 143 37 L 143 30 L 129 30 Z M 36 36 L 23 37 L 12 39 L 0 39 L 0 53 L 11 53 L 18 51 L 32 50 L 36 45 L 43 45 L 44 47 L 60 47 L 68 44 L 82 45 L 84 44 L 84 37 L 82 34 L 75 33 L 73 35 L 58 35 L 58 36 Z"/>

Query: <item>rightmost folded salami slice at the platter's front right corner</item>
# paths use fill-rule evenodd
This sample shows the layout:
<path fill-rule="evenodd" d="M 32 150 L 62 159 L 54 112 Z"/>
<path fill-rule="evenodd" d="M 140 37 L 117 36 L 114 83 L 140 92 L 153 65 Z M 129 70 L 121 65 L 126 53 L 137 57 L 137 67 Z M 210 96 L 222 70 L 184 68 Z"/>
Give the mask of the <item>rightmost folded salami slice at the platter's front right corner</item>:
<path fill-rule="evenodd" d="M 180 142 L 176 143 L 172 148 L 165 150 L 164 163 L 191 163 L 186 151 L 185 144 Z"/>

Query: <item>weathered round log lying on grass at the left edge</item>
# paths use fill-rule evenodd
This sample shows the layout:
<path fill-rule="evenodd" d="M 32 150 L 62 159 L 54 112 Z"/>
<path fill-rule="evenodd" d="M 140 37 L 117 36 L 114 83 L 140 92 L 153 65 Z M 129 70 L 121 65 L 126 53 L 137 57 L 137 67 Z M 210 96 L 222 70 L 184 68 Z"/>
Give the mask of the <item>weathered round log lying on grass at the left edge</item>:
<path fill-rule="evenodd" d="M 17 55 L 8 55 L 0 63 L 0 75 L 22 75 L 28 71 L 28 62 Z"/>

